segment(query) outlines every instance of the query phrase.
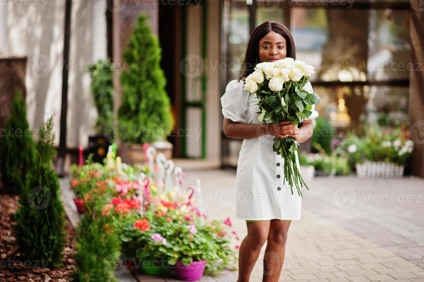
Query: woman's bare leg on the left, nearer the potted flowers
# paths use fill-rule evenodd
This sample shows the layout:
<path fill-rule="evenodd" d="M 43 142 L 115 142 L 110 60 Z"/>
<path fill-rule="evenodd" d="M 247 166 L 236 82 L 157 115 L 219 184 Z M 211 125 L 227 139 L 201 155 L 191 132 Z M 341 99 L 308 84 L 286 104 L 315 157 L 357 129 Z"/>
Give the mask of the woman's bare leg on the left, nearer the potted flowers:
<path fill-rule="evenodd" d="M 239 277 L 237 282 L 248 282 L 259 252 L 268 238 L 271 221 L 248 222 L 247 235 L 239 249 Z"/>

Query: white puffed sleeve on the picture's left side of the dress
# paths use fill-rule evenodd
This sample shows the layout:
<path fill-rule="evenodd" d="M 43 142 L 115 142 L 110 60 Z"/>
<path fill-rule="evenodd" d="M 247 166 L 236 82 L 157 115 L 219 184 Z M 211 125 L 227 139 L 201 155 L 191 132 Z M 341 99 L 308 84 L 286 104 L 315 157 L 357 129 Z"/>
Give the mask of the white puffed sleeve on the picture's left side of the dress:
<path fill-rule="evenodd" d="M 221 96 L 222 114 L 234 122 L 246 123 L 248 91 L 243 90 L 244 81 L 230 81 Z"/>

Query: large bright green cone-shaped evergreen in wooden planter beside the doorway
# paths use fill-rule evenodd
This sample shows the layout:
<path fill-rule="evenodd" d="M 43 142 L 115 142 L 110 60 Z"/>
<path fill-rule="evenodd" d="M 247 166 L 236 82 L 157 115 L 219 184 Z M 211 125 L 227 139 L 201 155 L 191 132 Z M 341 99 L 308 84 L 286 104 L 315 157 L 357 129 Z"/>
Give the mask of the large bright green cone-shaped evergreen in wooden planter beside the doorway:
<path fill-rule="evenodd" d="M 138 144 L 164 139 L 173 126 L 166 79 L 160 67 L 162 49 L 147 19 L 147 15 L 140 14 L 129 47 L 123 52 L 128 70 L 121 74 L 123 93 L 118 110 L 118 119 L 127 127 L 126 140 Z M 155 133 L 158 129 L 161 134 Z"/>

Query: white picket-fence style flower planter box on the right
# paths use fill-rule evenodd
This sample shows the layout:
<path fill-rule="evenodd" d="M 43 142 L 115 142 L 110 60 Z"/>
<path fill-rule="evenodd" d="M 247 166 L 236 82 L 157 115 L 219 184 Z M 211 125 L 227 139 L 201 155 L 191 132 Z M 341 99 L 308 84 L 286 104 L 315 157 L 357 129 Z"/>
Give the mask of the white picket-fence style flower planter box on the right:
<path fill-rule="evenodd" d="M 361 178 L 396 178 L 402 177 L 404 166 L 393 162 L 364 162 L 356 164 L 356 173 Z"/>

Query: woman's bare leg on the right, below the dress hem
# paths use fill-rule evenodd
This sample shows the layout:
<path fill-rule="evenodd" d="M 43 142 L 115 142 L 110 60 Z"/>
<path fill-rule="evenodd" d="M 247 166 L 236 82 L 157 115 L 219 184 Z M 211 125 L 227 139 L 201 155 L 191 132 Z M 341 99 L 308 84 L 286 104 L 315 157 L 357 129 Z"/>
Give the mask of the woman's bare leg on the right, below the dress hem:
<path fill-rule="evenodd" d="M 271 220 L 265 248 L 262 282 L 277 282 L 279 280 L 290 223 L 291 221 Z"/>

